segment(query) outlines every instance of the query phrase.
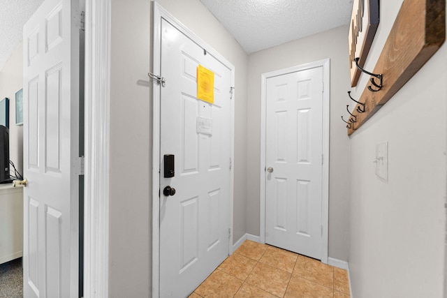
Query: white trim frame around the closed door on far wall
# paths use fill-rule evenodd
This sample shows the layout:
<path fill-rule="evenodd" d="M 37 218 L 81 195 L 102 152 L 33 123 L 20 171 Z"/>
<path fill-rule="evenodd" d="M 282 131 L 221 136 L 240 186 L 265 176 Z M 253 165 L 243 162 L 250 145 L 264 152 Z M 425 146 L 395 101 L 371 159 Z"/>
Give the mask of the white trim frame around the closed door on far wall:
<path fill-rule="evenodd" d="M 323 177 L 321 180 L 321 223 L 323 225 L 323 241 L 321 243 L 321 262 L 328 264 L 328 237 L 329 237 L 329 124 L 330 124 L 330 59 L 314 61 L 299 66 L 284 68 L 261 74 L 261 202 L 260 202 L 260 236 L 261 243 L 265 244 L 265 133 L 266 133 L 266 104 L 267 79 L 287 73 L 295 73 L 310 68 L 323 67 Z"/>

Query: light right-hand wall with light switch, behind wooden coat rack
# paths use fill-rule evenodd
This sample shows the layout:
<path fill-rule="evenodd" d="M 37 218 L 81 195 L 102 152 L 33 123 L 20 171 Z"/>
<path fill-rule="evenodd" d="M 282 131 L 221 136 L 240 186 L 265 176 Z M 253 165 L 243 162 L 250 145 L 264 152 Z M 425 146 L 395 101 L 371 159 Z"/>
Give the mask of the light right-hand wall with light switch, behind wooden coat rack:
<path fill-rule="evenodd" d="M 373 69 L 402 4 L 381 1 Z M 447 46 L 351 136 L 353 297 L 445 297 Z M 367 84 L 362 75 L 358 98 Z M 386 73 L 383 74 L 386 84 Z M 375 174 L 388 142 L 388 181 Z"/>

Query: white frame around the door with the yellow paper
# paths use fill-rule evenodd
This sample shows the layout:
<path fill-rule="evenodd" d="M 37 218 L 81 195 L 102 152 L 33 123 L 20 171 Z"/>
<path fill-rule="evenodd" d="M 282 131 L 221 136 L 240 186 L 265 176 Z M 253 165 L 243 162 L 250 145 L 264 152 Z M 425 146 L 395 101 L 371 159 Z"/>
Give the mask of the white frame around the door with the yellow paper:
<path fill-rule="evenodd" d="M 223 65 L 231 70 L 231 86 L 235 85 L 235 68 L 228 60 L 223 58 L 217 51 L 212 49 L 210 45 L 207 45 L 201 38 L 196 36 L 191 30 L 186 28 L 184 24 L 179 22 L 173 15 L 170 15 L 167 10 L 154 1 L 154 40 L 153 40 L 153 64 L 152 73 L 155 75 L 160 74 L 160 61 L 161 61 L 161 19 L 167 20 L 174 27 L 179 29 L 182 33 L 188 36 L 200 47 L 203 47 L 207 53 L 211 54 L 217 60 L 221 61 Z M 160 88 L 155 80 L 152 80 L 152 297 L 159 297 L 160 289 L 160 198 L 159 198 L 159 187 L 160 187 Z M 230 140 L 231 140 L 231 161 L 234 161 L 234 110 L 235 110 L 235 92 L 233 89 L 233 99 L 231 100 L 231 130 L 230 130 Z M 232 253 L 233 250 L 233 179 L 234 179 L 234 166 L 230 170 L 230 223 L 228 227 L 230 228 L 230 238 L 228 239 L 228 252 Z"/>

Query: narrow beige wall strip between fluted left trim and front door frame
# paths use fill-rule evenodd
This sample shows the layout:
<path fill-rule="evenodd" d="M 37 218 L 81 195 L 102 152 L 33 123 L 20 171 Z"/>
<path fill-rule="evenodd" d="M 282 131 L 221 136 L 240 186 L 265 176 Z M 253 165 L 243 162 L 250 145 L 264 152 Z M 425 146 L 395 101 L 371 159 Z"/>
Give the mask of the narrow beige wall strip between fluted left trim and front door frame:
<path fill-rule="evenodd" d="M 110 297 L 149 297 L 150 1 L 112 1 L 110 50 Z"/>

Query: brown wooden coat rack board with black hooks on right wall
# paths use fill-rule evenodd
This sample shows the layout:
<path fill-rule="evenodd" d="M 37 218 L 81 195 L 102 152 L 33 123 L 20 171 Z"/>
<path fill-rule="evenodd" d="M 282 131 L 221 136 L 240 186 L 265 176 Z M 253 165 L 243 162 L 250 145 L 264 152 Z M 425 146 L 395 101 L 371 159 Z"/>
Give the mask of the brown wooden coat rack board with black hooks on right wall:
<path fill-rule="evenodd" d="M 404 0 L 372 71 L 383 75 L 383 87 L 377 92 L 365 87 L 360 98 L 355 98 L 360 103 L 365 103 L 365 112 L 358 113 L 356 110 L 359 104 L 356 105 L 353 114 L 357 122 L 348 128 L 348 135 L 390 100 L 439 50 L 445 39 L 445 0 Z M 367 86 L 369 85 L 371 82 L 368 81 Z M 375 89 L 374 86 L 373 88 Z"/>

